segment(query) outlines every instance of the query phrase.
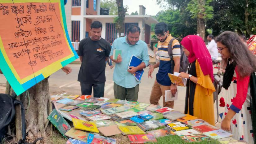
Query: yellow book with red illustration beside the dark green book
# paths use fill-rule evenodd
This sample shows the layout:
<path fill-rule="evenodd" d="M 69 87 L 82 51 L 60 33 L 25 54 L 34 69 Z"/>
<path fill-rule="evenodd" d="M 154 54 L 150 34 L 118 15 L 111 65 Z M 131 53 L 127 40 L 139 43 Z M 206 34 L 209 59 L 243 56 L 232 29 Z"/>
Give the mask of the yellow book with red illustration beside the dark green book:
<path fill-rule="evenodd" d="M 74 118 L 72 118 L 72 121 L 75 129 L 81 129 L 89 132 L 99 133 L 99 130 L 97 129 L 96 124 L 93 122 L 74 119 Z"/>

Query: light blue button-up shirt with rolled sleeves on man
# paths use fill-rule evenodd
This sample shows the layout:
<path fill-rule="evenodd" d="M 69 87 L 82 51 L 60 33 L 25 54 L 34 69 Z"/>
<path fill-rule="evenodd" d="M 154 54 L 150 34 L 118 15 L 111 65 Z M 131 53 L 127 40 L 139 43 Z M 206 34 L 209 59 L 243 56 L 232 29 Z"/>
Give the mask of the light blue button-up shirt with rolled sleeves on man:
<path fill-rule="evenodd" d="M 147 44 L 144 41 L 139 40 L 135 45 L 129 45 L 126 41 L 126 37 L 120 37 L 113 42 L 110 56 L 113 55 L 114 49 L 122 50 L 122 62 L 115 64 L 113 74 L 114 82 L 125 88 L 133 88 L 137 84 L 140 84 L 140 81 L 136 81 L 135 77 L 127 70 L 132 55 L 142 59 L 142 62 L 144 62 L 146 66 L 148 65 L 149 56 Z"/>

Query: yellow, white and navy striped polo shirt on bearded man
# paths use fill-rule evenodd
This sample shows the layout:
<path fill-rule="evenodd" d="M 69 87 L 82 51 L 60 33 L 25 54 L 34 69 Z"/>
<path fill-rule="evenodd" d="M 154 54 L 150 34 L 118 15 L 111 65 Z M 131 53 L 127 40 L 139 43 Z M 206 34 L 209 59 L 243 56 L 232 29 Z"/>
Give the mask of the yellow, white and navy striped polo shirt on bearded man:
<path fill-rule="evenodd" d="M 173 73 L 171 72 L 171 58 L 168 54 L 168 45 L 172 38 L 171 34 L 168 34 L 164 42 L 158 41 L 157 50 L 160 64 L 158 73 L 156 74 L 156 80 L 160 85 L 170 86 L 172 83 L 168 76 L 168 73 Z M 172 50 L 173 58 L 181 57 L 180 43 L 176 39 L 173 40 Z"/>

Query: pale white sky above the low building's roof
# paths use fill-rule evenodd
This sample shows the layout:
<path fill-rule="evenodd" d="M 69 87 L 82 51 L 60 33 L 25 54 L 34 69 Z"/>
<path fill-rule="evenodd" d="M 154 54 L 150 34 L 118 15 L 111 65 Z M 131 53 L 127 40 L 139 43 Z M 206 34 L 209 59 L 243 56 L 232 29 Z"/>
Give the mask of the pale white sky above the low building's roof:
<path fill-rule="evenodd" d="M 146 15 L 156 15 L 159 11 L 163 10 L 160 6 L 157 6 L 156 0 L 124 0 L 124 6 L 128 5 L 128 14 L 138 11 L 139 5 L 146 7 Z"/>

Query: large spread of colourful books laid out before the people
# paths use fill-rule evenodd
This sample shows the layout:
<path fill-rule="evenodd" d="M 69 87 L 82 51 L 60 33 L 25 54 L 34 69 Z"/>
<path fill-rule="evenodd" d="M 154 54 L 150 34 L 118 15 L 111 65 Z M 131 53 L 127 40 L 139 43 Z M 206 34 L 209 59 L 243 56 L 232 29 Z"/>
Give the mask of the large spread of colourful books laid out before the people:
<path fill-rule="evenodd" d="M 132 144 L 157 142 L 156 138 L 170 135 L 185 142 L 238 142 L 231 133 L 169 107 L 85 95 L 55 95 L 52 103 L 55 109 L 48 120 L 69 137 L 66 144 L 116 144 L 110 136 L 118 134 L 127 135 Z"/>

